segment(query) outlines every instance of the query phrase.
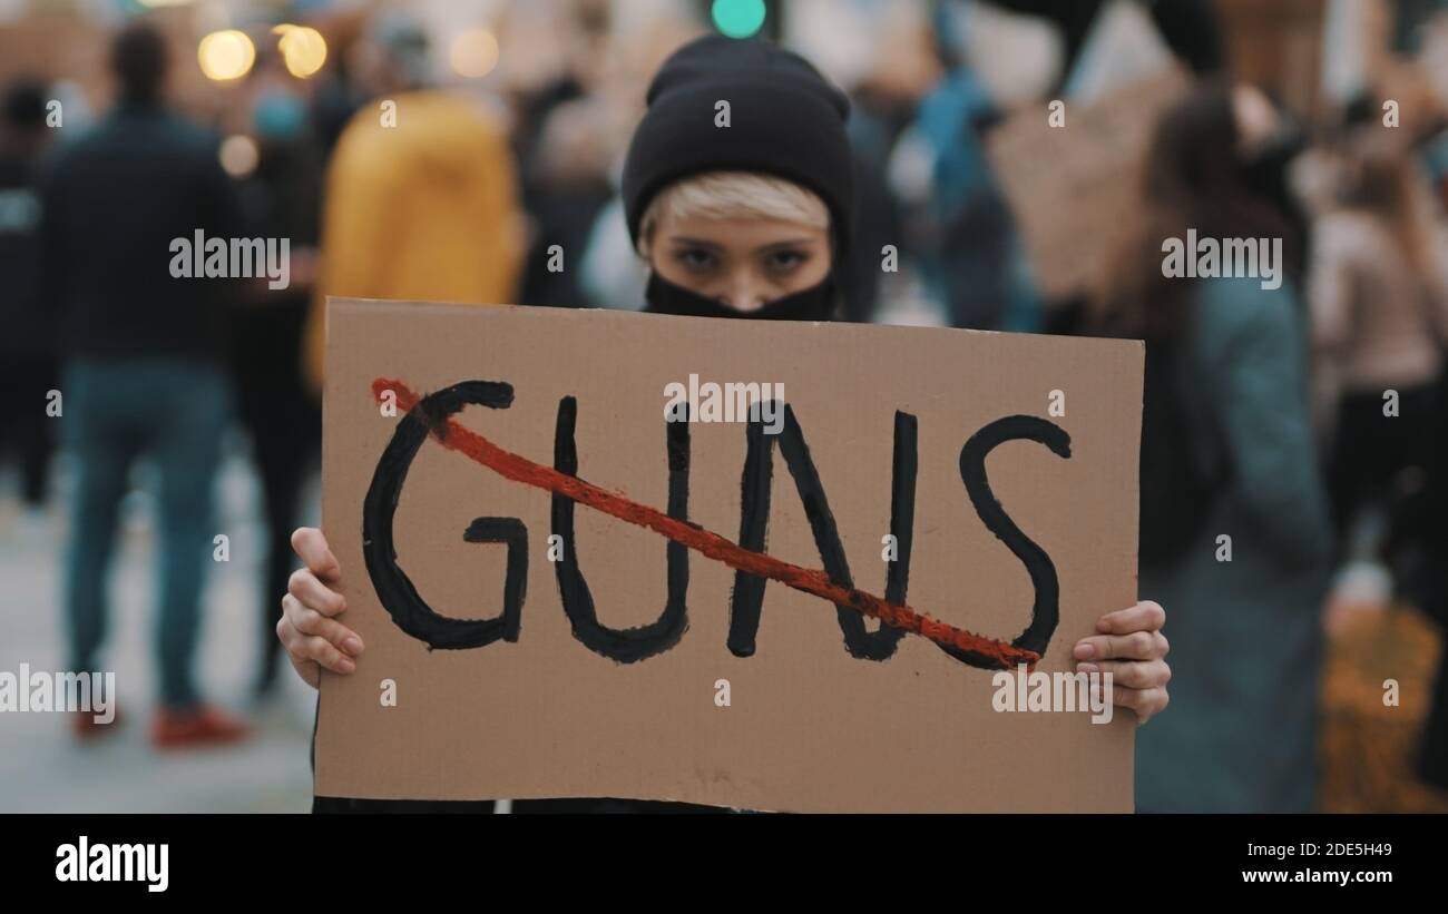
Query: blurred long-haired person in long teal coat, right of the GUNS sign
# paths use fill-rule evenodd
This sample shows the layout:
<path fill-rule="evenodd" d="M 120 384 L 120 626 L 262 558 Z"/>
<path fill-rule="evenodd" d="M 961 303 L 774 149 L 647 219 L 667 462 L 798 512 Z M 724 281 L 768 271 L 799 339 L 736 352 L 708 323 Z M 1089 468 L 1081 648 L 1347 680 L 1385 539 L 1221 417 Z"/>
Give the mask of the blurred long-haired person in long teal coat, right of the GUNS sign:
<path fill-rule="evenodd" d="M 1244 145 L 1261 101 L 1211 82 L 1163 116 L 1093 327 L 1147 343 L 1141 594 L 1171 606 L 1174 707 L 1137 736 L 1142 811 L 1315 800 L 1331 535 L 1297 296 L 1251 276 L 1169 278 L 1163 260 L 1190 228 L 1283 236 Z"/>

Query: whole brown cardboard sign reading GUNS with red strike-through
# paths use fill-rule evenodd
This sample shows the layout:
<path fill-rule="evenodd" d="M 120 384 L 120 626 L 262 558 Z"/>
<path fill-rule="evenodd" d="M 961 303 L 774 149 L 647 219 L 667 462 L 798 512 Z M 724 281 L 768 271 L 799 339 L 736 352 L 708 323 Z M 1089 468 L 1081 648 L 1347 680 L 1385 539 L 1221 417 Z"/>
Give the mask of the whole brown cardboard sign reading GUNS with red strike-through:
<path fill-rule="evenodd" d="M 1129 712 L 993 677 L 1073 670 L 1137 599 L 1141 364 L 332 299 L 323 525 L 366 651 L 323 675 L 317 793 L 1131 810 Z"/>

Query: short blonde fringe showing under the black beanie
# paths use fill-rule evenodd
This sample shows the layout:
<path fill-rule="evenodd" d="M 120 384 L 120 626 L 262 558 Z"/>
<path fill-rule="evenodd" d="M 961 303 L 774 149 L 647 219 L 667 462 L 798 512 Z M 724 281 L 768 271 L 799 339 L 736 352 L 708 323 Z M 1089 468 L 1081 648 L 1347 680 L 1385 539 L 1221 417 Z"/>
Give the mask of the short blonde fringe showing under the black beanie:
<path fill-rule="evenodd" d="M 647 256 L 665 213 L 673 218 L 770 218 L 830 230 L 830 208 L 809 188 L 756 172 L 704 172 L 675 181 L 649 201 L 639 221 L 640 256 Z"/>

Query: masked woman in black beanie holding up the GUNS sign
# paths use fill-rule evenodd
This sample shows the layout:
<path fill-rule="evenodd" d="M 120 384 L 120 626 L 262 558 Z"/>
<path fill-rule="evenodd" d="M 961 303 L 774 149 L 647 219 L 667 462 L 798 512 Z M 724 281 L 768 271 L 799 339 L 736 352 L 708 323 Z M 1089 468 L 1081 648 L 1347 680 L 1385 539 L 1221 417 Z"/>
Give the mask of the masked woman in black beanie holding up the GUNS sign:
<path fill-rule="evenodd" d="M 736 111 L 728 132 L 714 100 Z M 649 263 L 653 314 L 744 320 L 830 320 L 838 311 L 835 265 L 853 228 L 849 101 L 804 58 L 760 40 L 702 38 L 654 77 L 649 110 L 624 166 L 628 233 Z M 356 670 L 361 638 L 336 619 L 346 584 L 321 531 L 292 545 L 306 570 L 292 574 L 277 635 L 297 674 L 316 687 L 326 668 Z M 679 547 L 682 548 L 682 547 Z M 1151 719 L 1167 704 L 1170 668 L 1156 603 L 1106 613 L 1074 657 L 1115 677 L 1114 701 Z M 1128 636 L 1137 635 L 1137 636 Z M 316 798 L 316 811 L 466 808 L 489 803 L 404 803 Z M 621 800 L 517 801 L 515 811 L 711 810 Z"/>

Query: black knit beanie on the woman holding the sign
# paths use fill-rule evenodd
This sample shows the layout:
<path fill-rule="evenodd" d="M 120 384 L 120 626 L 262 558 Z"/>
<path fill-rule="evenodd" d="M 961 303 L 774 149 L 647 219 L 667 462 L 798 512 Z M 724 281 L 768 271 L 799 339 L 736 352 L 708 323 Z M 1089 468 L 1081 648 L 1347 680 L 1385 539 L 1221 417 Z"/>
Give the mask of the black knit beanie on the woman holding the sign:
<path fill-rule="evenodd" d="M 728 101 L 730 126 L 715 126 Z M 775 175 L 830 208 L 838 252 L 849 247 L 854 166 L 844 121 L 850 101 L 808 61 L 760 39 L 707 35 L 675 51 L 649 84 L 649 110 L 624 162 L 628 234 L 669 184 L 714 171 Z"/>

